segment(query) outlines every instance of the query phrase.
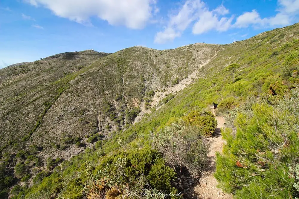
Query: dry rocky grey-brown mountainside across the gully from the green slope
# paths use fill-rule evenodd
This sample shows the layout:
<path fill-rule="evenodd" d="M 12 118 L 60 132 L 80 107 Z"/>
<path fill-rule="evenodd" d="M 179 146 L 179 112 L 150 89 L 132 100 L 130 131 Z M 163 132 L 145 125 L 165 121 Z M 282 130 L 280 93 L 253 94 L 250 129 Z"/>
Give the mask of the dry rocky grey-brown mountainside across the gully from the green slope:
<path fill-rule="evenodd" d="M 86 50 L 4 68 L 3 150 L 16 152 L 36 144 L 43 148 L 42 157 L 68 159 L 80 149 L 65 143 L 65 136 L 88 144 L 90 134 L 108 135 L 125 128 L 138 107 L 146 111 L 150 92 L 160 90 L 163 97 L 163 90 L 199 71 L 221 49 L 195 44 L 163 51 L 132 47 L 110 55 Z M 147 104 L 147 109 L 154 107 Z M 60 149 L 62 153 L 57 152 Z"/>

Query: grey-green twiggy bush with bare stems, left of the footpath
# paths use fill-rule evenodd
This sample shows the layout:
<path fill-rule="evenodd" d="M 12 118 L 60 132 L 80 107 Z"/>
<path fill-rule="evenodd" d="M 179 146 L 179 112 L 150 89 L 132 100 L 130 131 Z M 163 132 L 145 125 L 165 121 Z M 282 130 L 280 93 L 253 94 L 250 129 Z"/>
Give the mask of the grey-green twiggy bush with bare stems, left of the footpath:
<path fill-rule="evenodd" d="M 152 133 L 152 140 L 165 161 L 179 172 L 185 168 L 193 177 L 198 177 L 205 168 L 208 149 L 198 128 L 172 123 Z"/>

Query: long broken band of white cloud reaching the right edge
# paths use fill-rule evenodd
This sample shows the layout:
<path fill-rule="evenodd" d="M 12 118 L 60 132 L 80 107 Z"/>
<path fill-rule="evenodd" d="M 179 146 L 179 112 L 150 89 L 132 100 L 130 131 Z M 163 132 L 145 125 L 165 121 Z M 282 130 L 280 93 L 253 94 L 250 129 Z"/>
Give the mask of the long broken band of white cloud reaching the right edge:
<path fill-rule="evenodd" d="M 257 10 L 247 11 L 237 16 L 234 21 L 235 16 L 229 15 L 229 10 L 223 4 L 210 10 L 202 0 L 187 0 L 176 15 L 169 17 L 164 30 L 156 33 L 154 42 L 161 44 L 173 41 L 176 37 L 180 37 L 191 24 L 193 24 L 194 35 L 211 30 L 224 32 L 249 26 L 265 28 L 290 25 L 299 15 L 299 0 L 278 0 L 276 11 L 276 15 L 267 18 L 261 18 Z"/>

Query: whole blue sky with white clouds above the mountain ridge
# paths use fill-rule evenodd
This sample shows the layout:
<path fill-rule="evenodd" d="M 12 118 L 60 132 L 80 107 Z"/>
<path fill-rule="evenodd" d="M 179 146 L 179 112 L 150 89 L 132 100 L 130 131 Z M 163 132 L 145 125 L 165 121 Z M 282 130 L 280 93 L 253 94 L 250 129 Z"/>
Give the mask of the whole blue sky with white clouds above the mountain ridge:
<path fill-rule="evenodd" d="M 298 14 L 299 0 L 1 0 L 0 68 L 86 49 L 226 44 Z"/>

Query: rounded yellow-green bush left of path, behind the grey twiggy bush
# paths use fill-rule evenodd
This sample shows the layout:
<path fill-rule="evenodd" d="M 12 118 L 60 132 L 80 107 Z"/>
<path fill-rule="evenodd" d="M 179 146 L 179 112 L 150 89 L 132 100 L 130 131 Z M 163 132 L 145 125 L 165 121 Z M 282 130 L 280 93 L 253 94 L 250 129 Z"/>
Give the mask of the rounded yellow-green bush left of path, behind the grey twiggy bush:
<path fill-rule="evenodd" d="M 187 124 L 198 127 L 201 134 L 207 137 L 212 136 L 217 126 L 217 120 L 210 111 L 191 111 L 183 119 Z"/>

